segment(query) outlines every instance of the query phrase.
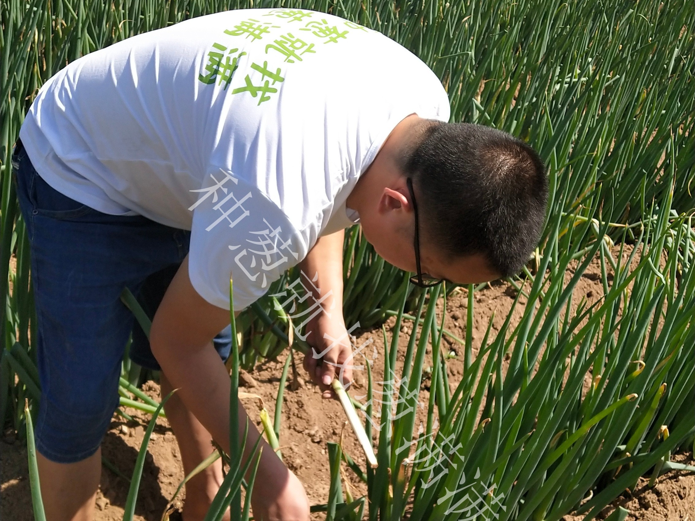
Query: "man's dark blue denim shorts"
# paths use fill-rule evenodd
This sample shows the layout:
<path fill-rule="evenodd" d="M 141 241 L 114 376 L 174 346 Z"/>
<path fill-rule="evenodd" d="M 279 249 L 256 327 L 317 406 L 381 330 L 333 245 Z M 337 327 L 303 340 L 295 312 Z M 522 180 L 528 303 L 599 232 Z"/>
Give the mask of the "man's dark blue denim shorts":
<path fill-rule="evenodd" d="M 36 306 L 36 447 L 51 461 L 72 463 L 94 454 L 108 430 L 131 332 L 131 360 L 159 369 L 120 294 L 130 288 L 153 317 L 188 254 L 190 231 L 141 215 L 108 215 L 66 197 L 38 175 L 21 142 L 12 163 Z M 226 359 L 229 326 L 213 343 Z"/>

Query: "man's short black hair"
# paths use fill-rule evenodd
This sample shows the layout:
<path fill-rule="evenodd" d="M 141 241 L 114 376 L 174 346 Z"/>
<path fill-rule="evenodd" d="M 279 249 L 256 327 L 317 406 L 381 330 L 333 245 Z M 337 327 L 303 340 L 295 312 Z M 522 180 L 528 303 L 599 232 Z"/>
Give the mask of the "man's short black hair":
<path fill-rule="evenodd" d="M 484 254 L 502 276 L 528 262 L 548 203 L 546 169 L 528 144 L 488 126 L 427 122 L 403 169 L 420 240 L 451 257 Z"/>

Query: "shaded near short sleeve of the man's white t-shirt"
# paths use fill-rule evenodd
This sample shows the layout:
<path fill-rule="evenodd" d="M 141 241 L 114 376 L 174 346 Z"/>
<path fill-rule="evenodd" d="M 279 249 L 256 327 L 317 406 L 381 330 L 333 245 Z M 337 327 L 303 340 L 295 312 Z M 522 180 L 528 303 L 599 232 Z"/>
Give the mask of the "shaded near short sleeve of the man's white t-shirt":
<path fill-rule="evenodd" d="M 257 188 L 220 169 L 197 192 L 190 234 L 188 275 L 213 306 L 234 310 L 262 297 L 270 283 L 306 256 L 300 233 Z"/>

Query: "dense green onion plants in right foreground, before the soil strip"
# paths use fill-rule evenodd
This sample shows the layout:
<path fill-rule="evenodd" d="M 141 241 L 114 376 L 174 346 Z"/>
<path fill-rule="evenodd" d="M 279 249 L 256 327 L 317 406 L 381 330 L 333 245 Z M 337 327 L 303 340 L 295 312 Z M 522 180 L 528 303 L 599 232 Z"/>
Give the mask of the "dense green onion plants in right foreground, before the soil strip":
<path fill-rule="evenodd" d="M 576 215 L 551 217 L 521 322 L 512 327 L 509 313 L 494 337 L 490 322 L 455 390 L 443 381 L 439 288 L 415 317 L 419 340 L 411 333 L 399 372 L 400 311 L 383 381 L 370 373 L 368 426 L 381 426 L 378 467 L 363 472 L 370 520 L 591 519 L 650 470 L 695 472 L 669 461 L 695 436 L 695 233 L 692 217 L 669 220 L 670 198 L 626 261 L 611 255 L 608 223 L 596 230 Z M 596 256 L 605 294 L 572 311 L 573 289 Z M 428 343 L 427 397 L 420 386 Z M 419 431 L 418 402 L 429 404 Z"/>

